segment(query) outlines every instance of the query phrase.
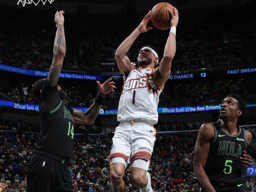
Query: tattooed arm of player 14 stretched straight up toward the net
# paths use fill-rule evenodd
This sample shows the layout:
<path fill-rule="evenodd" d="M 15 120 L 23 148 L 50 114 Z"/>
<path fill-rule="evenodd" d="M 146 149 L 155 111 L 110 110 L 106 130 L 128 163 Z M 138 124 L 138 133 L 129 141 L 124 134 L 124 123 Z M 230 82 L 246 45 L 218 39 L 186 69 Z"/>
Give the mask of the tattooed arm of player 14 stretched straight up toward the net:
<path fill-rule="evenodd" d="M 50 68 L 48 81 L 52 87 L 56 86 L 59 80 L 60 71 L 62 68 L 63 60 L 66 54 L 66 39 L 64 34 L 64 11 L 57 11 L 55 13 L 55 23 L 57 27 L 57 32 L 55 36 L 54 46 L 53 46 L 53 59 Z"/>

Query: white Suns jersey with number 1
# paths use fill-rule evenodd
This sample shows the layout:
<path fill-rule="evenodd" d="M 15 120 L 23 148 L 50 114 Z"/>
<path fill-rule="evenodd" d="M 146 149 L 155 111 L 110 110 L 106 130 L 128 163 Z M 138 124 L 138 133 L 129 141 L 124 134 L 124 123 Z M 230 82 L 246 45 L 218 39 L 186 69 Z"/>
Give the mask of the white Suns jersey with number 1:
<path fill-rule="evenodd" d="M 123 85 L 120 97 L 117 121 L 133 119 L 146 120 L 156 124 L 157 106 L 162 90 L 157 86 L 154 69 L 132 68 Z"/>

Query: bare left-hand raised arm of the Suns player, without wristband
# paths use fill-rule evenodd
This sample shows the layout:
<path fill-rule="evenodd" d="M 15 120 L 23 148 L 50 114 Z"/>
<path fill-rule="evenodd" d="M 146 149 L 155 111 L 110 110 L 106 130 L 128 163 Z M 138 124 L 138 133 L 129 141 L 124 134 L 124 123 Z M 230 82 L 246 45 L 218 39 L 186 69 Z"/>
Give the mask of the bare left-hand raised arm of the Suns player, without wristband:
<path fill-rule="evenodd" d="M 123 41 L 123 43 L 121 43 L 116 50 L 116 63 L 124 76 L 127 76 L 130 69 L 133 67 L 130 59 L 126 56 L 126 53 L 129 51 L 133 42 L 140 35 L 140 33 L 145 33 L 152 29 L 152 27 L 147 27 L 148 22 L 150 21 L 150 14 L 151 11 L 148 12 L 148 14 L 141 21 L 140 25 Z"/>

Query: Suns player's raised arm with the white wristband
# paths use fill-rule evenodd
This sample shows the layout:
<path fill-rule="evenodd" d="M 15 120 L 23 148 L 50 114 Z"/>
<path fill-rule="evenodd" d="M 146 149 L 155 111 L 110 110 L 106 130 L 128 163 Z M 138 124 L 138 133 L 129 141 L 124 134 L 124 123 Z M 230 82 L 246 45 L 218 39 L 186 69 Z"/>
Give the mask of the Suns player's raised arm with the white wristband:
<path fill-rule="evenodd" d="M 160 87 L 164 85 L 170 76 L 172 59 L 176 52 L 176 27 L 179 21 L 179 13 L 175 7 L 173 7 L 173 13 L 171 10 L 168 11 L 172 15 L 172 19 L 170 21 L 171 30 L 164 47 L 163 59 L 159 64 L 159 76 L 156 78 L 157 84 Z"/>

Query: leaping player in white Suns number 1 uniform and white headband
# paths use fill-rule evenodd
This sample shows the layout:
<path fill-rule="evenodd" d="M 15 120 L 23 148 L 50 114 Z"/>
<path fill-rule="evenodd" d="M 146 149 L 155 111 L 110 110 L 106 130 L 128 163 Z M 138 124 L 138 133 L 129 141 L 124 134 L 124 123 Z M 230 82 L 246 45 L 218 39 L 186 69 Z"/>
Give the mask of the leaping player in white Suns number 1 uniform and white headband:
<path fill-rule="evenodd" d="M 110 177 L 114 192 L 127 191 L 123 175 L 127 164 L 130 164 L 132 183 L 140 191 L 152 191 L 150 175 L 147 172 L 153 151 L 157 123 L 157 105 L 159 94 L 171 73 L 172 58 L 176 52 L 176 27 L 178 10 L 170 10 L 172 19 L 171 30 L 164 48 L 164 56 L 159 67 L 158 53 L 149 46 L 143 46 L 138 56 L 139 68 L 134 67 L 126 56 L 136 38 L 152 29 L 147 27 L 151 11 L 144 17 L 140 25 L 128 36 L 116 50 L 116 62 L 125 76 L 124 86 L 118 106 L 117 120 L 113 145 L 108 157 L 110 161 Z"/>

